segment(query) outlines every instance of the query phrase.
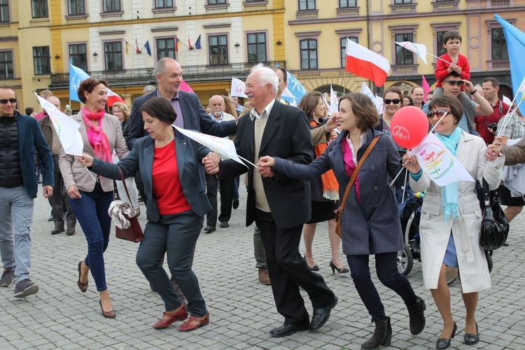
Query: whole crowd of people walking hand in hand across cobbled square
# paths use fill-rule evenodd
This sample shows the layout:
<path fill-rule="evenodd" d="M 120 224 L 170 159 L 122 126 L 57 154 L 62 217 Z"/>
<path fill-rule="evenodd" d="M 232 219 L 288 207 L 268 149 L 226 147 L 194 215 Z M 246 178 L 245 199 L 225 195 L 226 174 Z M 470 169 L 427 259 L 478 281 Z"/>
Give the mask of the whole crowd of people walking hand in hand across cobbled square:
<path fill-rule="evenodd" d="M 409 186 L 426 191 L 420 223 L 423 281 L 443 321 L 435 346 L 449 347 L 458 330 L 445 279 L 447 267 L 457 267 L 461 276 L 464 342 L 476 344 L 479 291 L 491 286 L 479 245 L 482 216 L 475 191 L 479 186 L 469 181 L 437 186 L 415 157 L 395 143 L 391 122 L 405 106 L 422 109 L 428 116 L 428 129 L 433 127 L 472 179 L 499 189 L 511 221 L 525 204 L 525 190 L 520 192 L 516 184 L 521 170 L 514 167 L 525 161 L 525 119 L 517 110 L 508 113 L 511 106 L 498 97 L 498 80 L 486 78 L 480 88 L 469 81 L 468 59 L 459 54 L 457 31 L 447 32 L 443 45 L 447 53 L 437 61 L 436 89 L 425 95 L 419 85 L 409 94 L 389 87 L 381 114 L 369 97 L 357 92 L 340 97 L 339 111 L 331 116 L 320 92 L 308 92 L 297 107 L 288 106 L 281 101 L 286 70 L 262 64 L 254 66 L 246 78 L 244 109 L 237 97 L 217 94 L 209 99 L 209 113 L 196 94 L 181 91 L 183 71 L 175 59 L 157 62 L 153 70 L 157 87 L 145 87 L 131 109 L 117 103 L 109 113 L 108 83 L 88 78 L 78 87 L 84 106 L 71 116 L 80 125 L 84 145 L 83 155 L 76 157 L 62 149 L 45 111 L 34 117 L 22 115 L 16 110 L 15 90 L 0 87 L 0 127 L 6 135 L 0 142 L 4 169 L 0 174 L 4 269 L 0 286 L 15 281 L 15 297 L 38 292 L 30 276 L 29 228 L 40 171 L 43 195 L 55 223 L 51 234 L 73 235 L 77 221 L 82 228 L 87 254 L 78 262 L 77 284 L 85 293 L 92 274 L 102 315 L 116 317 L 104 264 L 111 231 L 108 209 L 116 195 L 134 208 L 139 208 L 140 198 L 146 204 L 147 223 L 137 265 L 165 304 L 153 328 L 184 321 L 179 330 L 195 330 L 210 322 L 192 269 L 197 239 L 201 232 L 216 231 L 217 221 L 220 228 L 228 228 L 232 209 L 239 206 L 239 191 L 246 190 L 246 226 L 255 223 L 259 281 L 272 286 L 276 309 L 283 316 L 283 324 L 269 333 L 283 337 L 318 330 L 336 307 L 338 297 L 316 273 L 319 267 L 314 259 L 316 224 L 326 221 L 332 273 L 350 273 L 375 325 L 361 349 L 379 349 L 390 344 L 393 330 L 370 277 L 370 255 L 374 255 L 379 281 L 405 304 L 409 332 L 418 335 L 426 325 L 423 291 L 416 294 L 397 267 L 403 236 L 390 182 L 396 179 L 393 186 L 406 186 L 402 176 L 396 176 L 406 169 Z M 45 99 L 61 108 L 52 94 Z M 221 160 L 174 126 L 228 137 L 237 154 L 257 167 Z M 130 197 L 123 191 L 120 172 Z M 337 221 L 336 212 L 342 207 Z M 137 209 L 134 214 L 141 213 Z M 299 249 L 301 237 L 304 255 Z M 339 259 L 341 242 L 348 267 Z M 171 276 L 163 267 L 165 260 Z M 311 315 L 300 288 L 309 295 Z"/>

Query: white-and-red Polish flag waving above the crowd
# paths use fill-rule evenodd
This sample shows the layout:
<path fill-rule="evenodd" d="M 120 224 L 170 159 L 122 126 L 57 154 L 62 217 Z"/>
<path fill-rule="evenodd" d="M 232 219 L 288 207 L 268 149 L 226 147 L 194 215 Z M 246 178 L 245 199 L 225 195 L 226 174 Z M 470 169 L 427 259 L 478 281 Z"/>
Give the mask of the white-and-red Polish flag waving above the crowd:
<path fill-rule="evenodd" d="M 381 87 L 390 71 L 390 63 L 388 59 L 376 52 L 346 39 L 345 70 L 361 78 L 370 79 L 375 85 Z"/>

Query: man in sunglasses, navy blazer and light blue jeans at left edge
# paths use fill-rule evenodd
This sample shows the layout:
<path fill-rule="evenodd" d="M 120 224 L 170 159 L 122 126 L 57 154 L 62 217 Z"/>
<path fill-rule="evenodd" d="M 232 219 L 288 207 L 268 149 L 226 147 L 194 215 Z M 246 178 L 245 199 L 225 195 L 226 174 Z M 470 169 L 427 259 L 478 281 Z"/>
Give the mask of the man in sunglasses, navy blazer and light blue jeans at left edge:
<path fill-rule="evenodd" d="M 18 113 L 16 104 L 13 87 L 0 86 L 0 286 L 16 280 L 15 297 L 27 297 L 38 292 L 29 276 L 29 228 L 38 191 L 35 151 L 42 166 L 44 198 L 52 196 L 55 183 L 52 154 L 40 127 L 34 118 Z"/>

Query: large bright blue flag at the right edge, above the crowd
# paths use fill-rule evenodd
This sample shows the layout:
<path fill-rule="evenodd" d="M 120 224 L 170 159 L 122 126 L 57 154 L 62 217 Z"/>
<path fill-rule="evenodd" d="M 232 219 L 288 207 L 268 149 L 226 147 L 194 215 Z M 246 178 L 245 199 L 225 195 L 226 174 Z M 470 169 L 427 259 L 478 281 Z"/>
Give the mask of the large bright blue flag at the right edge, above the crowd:
<path fill-rule="evenodd" d="M 499 15 L 494 15 L 494 18 L 503 27 L 503 34 L 505 34 L 505 41 L 507 41 L 507 50 L 509 52 L 510 62 L 510 81 L 512 83 L 512 90 L 516 96 L 516 102 L 519 103 L 520 97 L 523 98 L 523 91 L 520 91 L 521 81 L 525 77 L 525 64 L 523 64 L 523 57 L 525 57 L 525 33 L 511 25 Z M 525 106 L 521 104 L 519 111 L 525 114 Z"/>

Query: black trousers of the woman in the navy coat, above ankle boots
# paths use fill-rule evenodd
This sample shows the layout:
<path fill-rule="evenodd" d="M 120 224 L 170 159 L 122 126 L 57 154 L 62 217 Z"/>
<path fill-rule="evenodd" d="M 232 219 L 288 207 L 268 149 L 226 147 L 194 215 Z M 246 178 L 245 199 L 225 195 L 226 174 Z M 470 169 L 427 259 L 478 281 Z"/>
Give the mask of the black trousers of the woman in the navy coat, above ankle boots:
<path fill-rule="evenodd" d="M 368 310 L 372 321 L 386 319 L 384 306 L 377 289 L 370 279 L 370 267 L 368 260 L 370 255 L 346 255 L 353 284 L 356 286 L 357 293 L 363 300 L 363 304 Z M 398 272 L 398 253 L 381 253 L 375 255 L 375 268 L 379 281 L 393 290 L 402 298 L 405 305 L 413 305 L 416 302 L 416 295 L 407 277 Z"/>

